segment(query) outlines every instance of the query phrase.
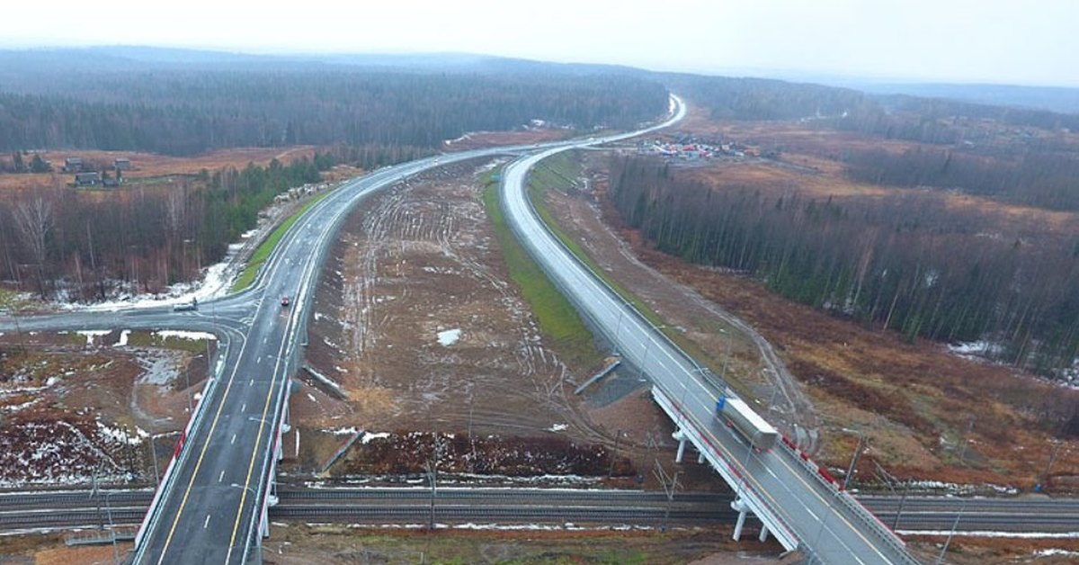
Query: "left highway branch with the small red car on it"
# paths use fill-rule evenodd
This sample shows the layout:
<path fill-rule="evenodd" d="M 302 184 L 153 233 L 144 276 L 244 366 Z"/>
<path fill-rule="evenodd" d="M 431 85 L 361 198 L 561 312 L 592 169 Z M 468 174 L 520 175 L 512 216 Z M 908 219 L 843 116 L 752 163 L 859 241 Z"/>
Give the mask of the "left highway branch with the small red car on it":
<path fill-rule="evenodd" d="M 632 135 L 637 134 L 604 140 Z M 166 472 L 160 500 L 144 523 L 135 563 L 247 563 L 258 536 L 269 527 L 271 477 L 287 409 L 285 389 L 297 368 L 297 348 L 306 339 L 311 293 L 341 223 L 359 202 L 434 166 L 581 144 L 500 147 L 421 159 L 352 180 L 308 210 L 267 260 L 256 290 L 222 300 L 222 308 L 250 309 L 244 319 L 249 329 L 230 349 L 234 357 L 226 364 L 227 372 L 207 390 L 185 435 L 185 447 L 170 466 L 176 471 Z M 279 302 L 285 296 L 291 302 L 287 308 Z M 204 304 L 200 312 L 216 307 Z"/>

